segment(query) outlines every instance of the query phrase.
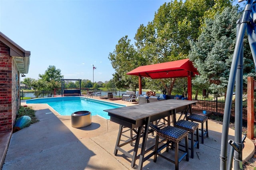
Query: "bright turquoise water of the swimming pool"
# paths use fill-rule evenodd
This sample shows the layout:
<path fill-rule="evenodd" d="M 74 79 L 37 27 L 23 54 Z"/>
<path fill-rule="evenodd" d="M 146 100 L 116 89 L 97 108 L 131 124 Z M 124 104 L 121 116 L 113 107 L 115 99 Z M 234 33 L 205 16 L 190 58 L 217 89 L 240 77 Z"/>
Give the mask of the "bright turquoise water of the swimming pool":
<path fill-rule="evenodd" d="M 110 119 L 105 109 L 125 107 L 115 103 L 100 101 L 96 99 L 85 99 L 84 97 L 51 97 L 26 100 L 26 103 L 46 103 L 60 115 L 70 116 L 76 111 L 90 111 L 91 115 L 99 115 Z"/>

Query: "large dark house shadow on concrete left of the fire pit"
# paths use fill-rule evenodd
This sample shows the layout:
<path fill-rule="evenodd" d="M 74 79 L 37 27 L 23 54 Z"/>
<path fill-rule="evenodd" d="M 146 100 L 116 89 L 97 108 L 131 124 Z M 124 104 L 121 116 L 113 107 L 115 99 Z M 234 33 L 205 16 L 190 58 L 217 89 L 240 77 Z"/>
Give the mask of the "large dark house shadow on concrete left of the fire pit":
<path fill-rule="evenodd" d="M 49 109 L 37 110 L 38 123 L 12 134 L 3 170 L 85 169 L 88 166 L 94 152 L 50 112 Z"/>

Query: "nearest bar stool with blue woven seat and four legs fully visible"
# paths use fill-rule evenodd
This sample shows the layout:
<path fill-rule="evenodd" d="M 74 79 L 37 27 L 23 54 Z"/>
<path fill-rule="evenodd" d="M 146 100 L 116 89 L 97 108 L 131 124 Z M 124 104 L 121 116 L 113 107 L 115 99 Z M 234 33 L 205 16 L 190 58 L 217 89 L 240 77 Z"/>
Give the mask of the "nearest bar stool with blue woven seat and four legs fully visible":
<path fill-rule="evenodd" d="M 163 137 L 163 138 L 166 138 L 167 142 L 166 142 L 166 144 L 164 144 L 164 145 L 162 145 L 158 148 L 159 136 Z M 185 145 L 186 145 L 185 146 L 185 151 L 184 151 L 184 154 L 180 158 L 178 158 L 179 142 L 182 139 L 185 139 Z M 172 143 L 172 148 L 173 148 L 173 143 L 175 143 L 175 146 L 174 146 L 175 147 L 175 160 L 171 160 L 170 158 L 167 158 L 166 156 L 163 156 L 162 154 L 159 153 L 164 148 L 166 148 L 166 152 L 168 152 L 170 143 Z M 175 164 L 175 169 L 178 170 L 179 169 L 179 163 L 185 156 L 186 156 L 186 161 L 189 160 L 188 131 L 184 130 L 184 129 L 181 129 L 181 128 L 172 127 L 172 126 L 167 126 L 167 127 L 164 127 L 160 130 L 157 130 L 154 162 L 156 162 L 157 156 L 161 156 L 162 158 L 174 163 Z"/>

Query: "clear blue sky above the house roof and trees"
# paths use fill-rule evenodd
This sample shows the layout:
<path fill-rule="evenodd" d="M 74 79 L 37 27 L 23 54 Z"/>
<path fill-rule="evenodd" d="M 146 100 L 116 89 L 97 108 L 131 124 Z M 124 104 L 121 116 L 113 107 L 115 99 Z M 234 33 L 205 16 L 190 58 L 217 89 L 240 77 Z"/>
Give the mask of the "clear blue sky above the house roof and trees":
<path fill-rule="evenodd" d="M 170 0 L 0 0 L 0 31 L 31 51 L 26 77 L 38 79 L 49 65 L 65 79 L 109 81 L 108 59 L 118 40 L 134 36 Z M 22 80 L 22 79 L 21 79 Z"/>

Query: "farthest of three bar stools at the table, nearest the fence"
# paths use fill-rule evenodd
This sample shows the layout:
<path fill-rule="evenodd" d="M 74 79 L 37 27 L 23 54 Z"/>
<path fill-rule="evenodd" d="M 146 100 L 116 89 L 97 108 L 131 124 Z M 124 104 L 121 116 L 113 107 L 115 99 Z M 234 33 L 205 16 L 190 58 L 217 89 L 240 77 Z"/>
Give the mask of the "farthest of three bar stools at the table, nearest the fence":
<path fill-rule="evenodd" d="M 201 143 L 204 143 L 204 135 L 206 135 L 206 137 L 209 137 L 208 135 L 208 117 L 207 116 L 202 116 L 202 115 L 197 115 L 197 114 L 191 114 L 187 117 L 187 120 L 189 121 L 194 121 L 194 122 L 198 122 L 201 123 L 201 137 L 202 137 L 202 141 Z M 206 130 L 204 130 L 204 123 L 206 122 Z"/>

